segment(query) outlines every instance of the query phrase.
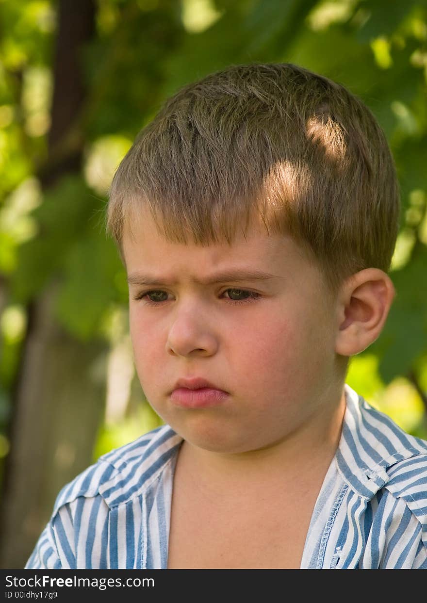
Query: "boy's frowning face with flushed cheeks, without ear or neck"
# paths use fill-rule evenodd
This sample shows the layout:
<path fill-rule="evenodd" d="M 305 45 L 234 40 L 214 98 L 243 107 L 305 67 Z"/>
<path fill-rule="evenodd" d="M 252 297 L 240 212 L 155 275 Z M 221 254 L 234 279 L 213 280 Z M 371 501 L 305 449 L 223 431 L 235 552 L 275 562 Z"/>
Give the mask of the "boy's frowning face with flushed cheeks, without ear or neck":
<path fill-rule="evenodd" d="M 336 405 L 334 299 L 293 239 L 269 236 L 254 222 L 232 246 L 180 245 L 159 236 L 148 212 L 132 230 L 123 250 L 136 370 L 172 429 L 206 450 L 248 452 Z M 270 276 L 201 283 L 235 271 Z M 140 285 L 142 274 L 164 284 Z M 186 405 L 172 391 L 178 379 L 194 377 L 227 394 Z"/>

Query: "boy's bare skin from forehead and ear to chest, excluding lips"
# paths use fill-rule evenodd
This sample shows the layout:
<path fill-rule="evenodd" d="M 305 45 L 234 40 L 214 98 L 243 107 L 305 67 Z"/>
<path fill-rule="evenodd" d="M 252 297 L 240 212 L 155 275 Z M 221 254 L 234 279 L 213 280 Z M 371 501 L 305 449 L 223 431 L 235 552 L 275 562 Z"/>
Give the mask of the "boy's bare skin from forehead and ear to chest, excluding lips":
<path fill-rule="evenodd" d="M 162 238 L 147 213 L 123 251 L 139 380 L 184 440 L 168 567 L 300 567 L 340 440 L 343 360 L 378 337 L 391 280 L 368 268 L 332 294 L 296 241 L 256 221 L 201 247 Z M 226 397 L 180 405 L 177 380 L 194 378 Z"/>

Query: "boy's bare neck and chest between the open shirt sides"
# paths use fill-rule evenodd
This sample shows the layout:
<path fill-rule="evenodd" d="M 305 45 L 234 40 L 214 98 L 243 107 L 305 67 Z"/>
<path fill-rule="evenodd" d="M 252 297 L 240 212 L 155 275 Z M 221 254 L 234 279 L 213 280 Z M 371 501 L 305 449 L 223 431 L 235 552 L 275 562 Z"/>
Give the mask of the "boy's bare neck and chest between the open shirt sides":
<path fill-rule="evenodd" d="M 258 451 L 251 463 L 244 458 L 230 463 L 223 457 L 212 465 L 184 442 L 174 479 L 168 568 L 298 569 L 344 410 L 343 396 L 328 417 L 327 436 L 318 443 L 296 450 L 309 432 L 313 435 L 305 430 L 279 446 L 281 450 Z M 286 458 L 298 458 L 299 463 L 286 463 Z"/>

